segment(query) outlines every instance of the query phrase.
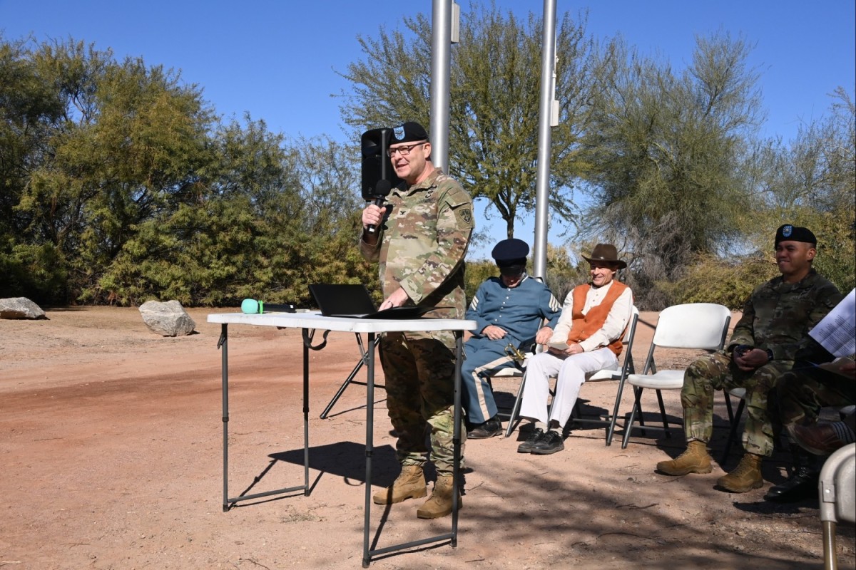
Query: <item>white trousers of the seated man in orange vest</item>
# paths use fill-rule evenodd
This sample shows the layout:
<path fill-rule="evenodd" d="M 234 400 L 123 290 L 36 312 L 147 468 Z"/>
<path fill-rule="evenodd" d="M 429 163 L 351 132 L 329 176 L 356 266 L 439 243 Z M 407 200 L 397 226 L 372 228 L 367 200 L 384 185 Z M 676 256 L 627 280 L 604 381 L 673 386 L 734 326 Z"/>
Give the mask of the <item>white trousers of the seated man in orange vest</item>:
<path fill-rule="evenodd" d="M 526 382 L 523 385 L 523 403 L 520 415 L 530 420 L 543 421 L 550 427 L 550 420 L 559 427 L 568 423 L 571 411 L 580 396 L 580 386 L 586 381 L 586 373 L 604 368 L 616 369 L 618 359 L 608 348 L 582 352 L 566 358 L 542 352 L 526 363 Z M 556 377 L 556 395 L 547 408 L 550 398 L 550 378 Z"/>

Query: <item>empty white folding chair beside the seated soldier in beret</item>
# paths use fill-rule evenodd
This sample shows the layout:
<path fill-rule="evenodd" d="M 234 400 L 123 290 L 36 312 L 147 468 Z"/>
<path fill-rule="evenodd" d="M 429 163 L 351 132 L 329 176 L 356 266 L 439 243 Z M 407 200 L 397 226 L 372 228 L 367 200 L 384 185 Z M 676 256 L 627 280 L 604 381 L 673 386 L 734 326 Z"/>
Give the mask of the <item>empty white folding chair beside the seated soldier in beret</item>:
<path fill-rule="evenodd" d="M 666 419 L 666 408 L 663 405 L 663 390 L 680 390 L 684 385 L 683 370 L 660 370 L 654 362 L 657 348 L 721 350 L 728 335 L 728 323 L 731 322 L 731 311 L 716 303 L 687 303 L 673 305 L 660 312 L 651 348 L 645 359 L 645 367 L 641 374 L 628 374 L 627 382 L 633 386 L 633 410 L 624 430 L 621 449 L 627 447 L 630 433 L 639 427 L 657 429 L 666 432 L 670 437 L 669 421 Z M 660 417 L 663 427 L 645 426 L 642 417 L 641 397 L 645 388 L 657 391 L 657 403 L 660 406 Z M 634 425 L 639 414 L 639 424 Z"/>

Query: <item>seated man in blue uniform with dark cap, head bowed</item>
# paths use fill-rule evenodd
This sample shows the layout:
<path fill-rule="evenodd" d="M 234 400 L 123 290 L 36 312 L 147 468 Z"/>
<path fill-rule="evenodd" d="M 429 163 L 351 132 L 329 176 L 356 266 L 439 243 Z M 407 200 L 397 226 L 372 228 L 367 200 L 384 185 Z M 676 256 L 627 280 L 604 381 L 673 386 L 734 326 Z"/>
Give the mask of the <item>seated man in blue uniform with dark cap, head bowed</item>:
<path fill-rule="evenodd" d="M 467 309 L 466 318 L 479 323 L 464 344 L 461 365 L 463 405 L 470 426 L 467 438 L 491 438 L 502 432 L 487 377 L 515 365 L 506 350 L 509 344 L 518 348 L 527 341 L 544 344 L 550 340 L 562 314 L 550 289 L 526 274 L 528 254 L 529 246 L 520 239 L 503 239 L 496 244 L 490 255 L 500 276 L 479 285 Z"/>

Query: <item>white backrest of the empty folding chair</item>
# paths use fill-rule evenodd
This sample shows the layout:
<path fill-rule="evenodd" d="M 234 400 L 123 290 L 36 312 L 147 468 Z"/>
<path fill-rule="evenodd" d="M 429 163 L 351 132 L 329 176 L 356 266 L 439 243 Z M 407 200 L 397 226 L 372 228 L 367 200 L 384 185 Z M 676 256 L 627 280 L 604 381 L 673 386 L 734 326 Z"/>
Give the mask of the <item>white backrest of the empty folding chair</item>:
<path fill-rule="evenodd" d="M 660 312 L 652 343 L 671 349 L 720 350 L 731 311 L 716 303 L 672 305 Z"/>

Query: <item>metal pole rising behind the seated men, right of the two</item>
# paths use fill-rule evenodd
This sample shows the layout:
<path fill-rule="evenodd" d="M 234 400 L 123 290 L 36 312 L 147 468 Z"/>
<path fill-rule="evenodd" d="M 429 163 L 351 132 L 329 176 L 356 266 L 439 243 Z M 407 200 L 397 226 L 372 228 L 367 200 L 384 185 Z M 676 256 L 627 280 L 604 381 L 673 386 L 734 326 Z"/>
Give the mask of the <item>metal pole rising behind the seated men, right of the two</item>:
<path fill-rule="evenodd" d="M 535 183 L 534 277 L 547 277 L 547 219 L 550 198 L 550 116 L 556 98 L 556 0 L 544 0 L 544 35 L 541 38 L 541 97 L 538 107 L 538 174 Z"/>

